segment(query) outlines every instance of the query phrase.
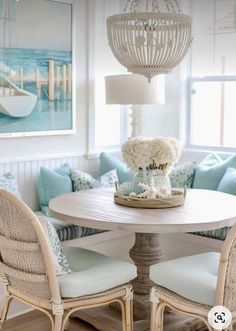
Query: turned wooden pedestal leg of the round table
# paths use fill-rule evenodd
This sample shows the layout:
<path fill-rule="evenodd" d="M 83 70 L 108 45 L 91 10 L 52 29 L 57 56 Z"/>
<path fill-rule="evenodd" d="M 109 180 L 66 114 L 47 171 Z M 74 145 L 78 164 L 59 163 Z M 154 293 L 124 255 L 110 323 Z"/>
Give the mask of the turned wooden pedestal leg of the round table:
<path fill-rule="evenodd" d="M 137 277 L 132 281 L 134 288 L 134 314 L 138 319 L 150 319 L 150 267 L 158 263 L 164 254 L 157 233 L 136 233 L 130 257 L 137 266 Z"/>

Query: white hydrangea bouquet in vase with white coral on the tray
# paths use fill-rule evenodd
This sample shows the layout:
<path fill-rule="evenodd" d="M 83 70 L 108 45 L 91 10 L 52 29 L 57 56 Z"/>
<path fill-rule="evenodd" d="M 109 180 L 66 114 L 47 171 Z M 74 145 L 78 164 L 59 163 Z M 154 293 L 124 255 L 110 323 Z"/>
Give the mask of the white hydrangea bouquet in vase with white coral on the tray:
<path fill-rule="evenodd" d="M 122 154 L 128 167 L 138 172 L 150 173 L 149 184 L 139 183 L 143 189 L 140 194 L 130 192 L 129 195 L 139 198 L 153 199 L 171 196 L 169 173 L 181 156 L 181 146 L 175 138 L 144 138 L 129 139 L 122 147 Z M 123 187 L 124 185 L 124 187 Z M 120 187 L 120 193 L 128 190 L 130 183 Z"/>

